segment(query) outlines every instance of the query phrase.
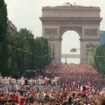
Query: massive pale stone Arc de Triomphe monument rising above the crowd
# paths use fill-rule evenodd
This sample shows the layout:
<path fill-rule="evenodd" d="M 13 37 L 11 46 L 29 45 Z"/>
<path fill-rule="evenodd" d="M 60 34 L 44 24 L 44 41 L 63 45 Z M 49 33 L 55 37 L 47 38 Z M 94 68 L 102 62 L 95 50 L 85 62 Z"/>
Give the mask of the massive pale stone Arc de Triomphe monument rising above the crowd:
<path fill-rule="evenodd" d="M 61 63 L 62 36 L 68 30 L 74 30 L 80 36 L 80 63 L 89 63 L 88 51 L 91 45 L 99 45 L 101 21 L 99 7 L 71 4 L 55 7 L 47 6 L 42 8 L 40 19 L 42 21 L 43 37 L 47 38 L 51 45 L 56 64 Z"/>

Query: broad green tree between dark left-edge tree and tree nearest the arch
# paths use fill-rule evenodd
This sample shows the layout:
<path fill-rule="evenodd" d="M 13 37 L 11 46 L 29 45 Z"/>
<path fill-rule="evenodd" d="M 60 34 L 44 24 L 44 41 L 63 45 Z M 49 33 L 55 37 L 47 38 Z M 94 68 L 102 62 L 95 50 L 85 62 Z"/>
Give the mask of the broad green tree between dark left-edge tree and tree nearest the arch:
<path fill-rule="evenodd" d="M 34 40 L 33 34 L 28 29 L 21 29 L 19 32 L 9 33 L 9 70 L 11 74 L 21 76 L 25 70 L 31 69 L 32 56 L 31 43 Z"/>

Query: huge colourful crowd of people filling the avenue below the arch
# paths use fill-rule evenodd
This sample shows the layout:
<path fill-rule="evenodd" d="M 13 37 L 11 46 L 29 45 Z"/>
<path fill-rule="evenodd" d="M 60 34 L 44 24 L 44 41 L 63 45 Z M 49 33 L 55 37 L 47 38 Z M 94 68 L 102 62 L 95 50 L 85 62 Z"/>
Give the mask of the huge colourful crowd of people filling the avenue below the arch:
<path fill-rule="evenodd" d="M 105 91 L 101 91 L 105 76 L 92 67 L 53 65 L 46 69 L 50 73 L 34 78 L 0 76 L 0 105 L 105 105 Z"/>

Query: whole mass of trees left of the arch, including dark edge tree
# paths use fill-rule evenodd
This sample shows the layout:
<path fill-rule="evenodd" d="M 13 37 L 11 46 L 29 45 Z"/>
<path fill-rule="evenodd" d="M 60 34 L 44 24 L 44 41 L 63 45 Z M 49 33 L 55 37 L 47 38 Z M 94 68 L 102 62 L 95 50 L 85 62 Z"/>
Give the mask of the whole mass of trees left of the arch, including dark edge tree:
<path fill-rule="evenodd" d="M 0 73 L 21 76 L 28 70 L 42 69 L 51 62 L 48 40 L 36 38 L 30 30 L 7 33 L 7 8 L 0 0 Z"/>

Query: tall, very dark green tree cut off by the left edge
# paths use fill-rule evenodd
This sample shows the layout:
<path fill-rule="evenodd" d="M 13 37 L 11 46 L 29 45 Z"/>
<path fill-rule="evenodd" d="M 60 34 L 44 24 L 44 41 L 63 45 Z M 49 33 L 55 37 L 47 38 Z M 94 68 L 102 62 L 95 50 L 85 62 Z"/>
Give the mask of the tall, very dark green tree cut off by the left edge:
<path fill-rule="evenodd" d="M 7 53 L 7 8 L 4 0 L 0 0 L 0 72 L 6 75 Z"/>

